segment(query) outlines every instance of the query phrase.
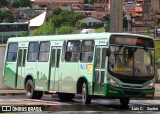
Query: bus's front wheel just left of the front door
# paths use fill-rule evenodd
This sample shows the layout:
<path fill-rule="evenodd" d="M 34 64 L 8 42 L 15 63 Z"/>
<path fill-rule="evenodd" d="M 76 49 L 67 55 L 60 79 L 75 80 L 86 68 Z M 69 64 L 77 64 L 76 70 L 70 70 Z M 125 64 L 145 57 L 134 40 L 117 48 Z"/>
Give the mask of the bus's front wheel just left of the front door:
<path fill-rule="evenodd" d="M 88 86 L 86 82 L 82 85 L 82 104 L 91 104 L 91 96 L 88 95 Z"/>

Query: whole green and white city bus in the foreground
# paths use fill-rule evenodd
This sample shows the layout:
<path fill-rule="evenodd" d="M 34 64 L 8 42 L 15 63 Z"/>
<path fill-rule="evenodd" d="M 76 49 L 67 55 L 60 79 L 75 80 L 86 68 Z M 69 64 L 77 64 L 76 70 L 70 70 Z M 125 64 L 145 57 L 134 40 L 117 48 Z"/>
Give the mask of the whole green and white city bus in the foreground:
<path fill-rule="evenodd" d="M 10 38 L 3 81 L 25 89 L 28 98 L 44 92 L 61 100 L 82 96 L 152 99 L 155 91 L 155 54 L 151 37 L 128 33 L 91 33 Z"/>

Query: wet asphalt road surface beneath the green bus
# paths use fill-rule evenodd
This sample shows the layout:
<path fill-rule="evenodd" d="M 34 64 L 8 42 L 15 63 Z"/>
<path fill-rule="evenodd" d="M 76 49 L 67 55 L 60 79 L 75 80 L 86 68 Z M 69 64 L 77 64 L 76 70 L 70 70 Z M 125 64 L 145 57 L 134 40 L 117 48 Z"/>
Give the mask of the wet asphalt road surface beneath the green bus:
<path fill-rule="evenodd" d="M 41 100 L 24 95 L 0 96 L 1 112 L 23 114 L 160 114 L 160 100 L 132 99 L 128 107 L 121 107 L 118 99 L 93 99 L 82 105 L 81 99 L 62 102 L 56 96 L 45 95 Z M 7 111 L 8 110 L 8 111 Z"/>

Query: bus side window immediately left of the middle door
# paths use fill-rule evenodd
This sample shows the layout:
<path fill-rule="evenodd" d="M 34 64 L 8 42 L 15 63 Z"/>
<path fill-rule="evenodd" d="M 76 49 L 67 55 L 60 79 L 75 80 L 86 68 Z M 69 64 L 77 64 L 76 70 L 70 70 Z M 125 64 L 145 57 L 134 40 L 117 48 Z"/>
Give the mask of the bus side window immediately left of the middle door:
<path fill-rule="evenodd" d="M 47 62 L 49 59 L 50 42 L 41 42 L 39 61 Z"/>

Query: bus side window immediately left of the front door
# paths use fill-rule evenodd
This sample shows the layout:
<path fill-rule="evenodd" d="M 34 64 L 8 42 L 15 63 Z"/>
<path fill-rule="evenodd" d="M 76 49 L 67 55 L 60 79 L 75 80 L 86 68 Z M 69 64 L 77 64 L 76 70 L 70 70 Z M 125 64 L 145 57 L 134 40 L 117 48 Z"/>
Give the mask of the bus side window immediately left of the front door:
<path fill-rule="evenodd" d="M 81 61 L 82 62 L 92 62 L 94 53 L 94 41 L 86 40 L 82 41 L 81 48 Z"/>

